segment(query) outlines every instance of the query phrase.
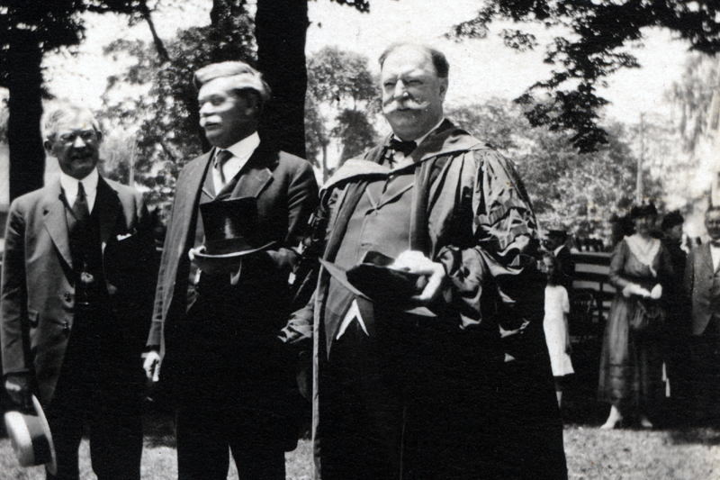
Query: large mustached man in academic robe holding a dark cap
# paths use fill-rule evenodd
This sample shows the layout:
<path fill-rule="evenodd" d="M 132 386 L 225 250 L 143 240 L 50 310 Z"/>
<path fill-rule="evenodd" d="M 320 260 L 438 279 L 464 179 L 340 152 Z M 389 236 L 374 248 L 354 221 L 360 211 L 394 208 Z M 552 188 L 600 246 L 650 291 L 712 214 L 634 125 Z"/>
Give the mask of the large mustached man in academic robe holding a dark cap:
<path fill-rule="evenodd" d="M 323 186 L 324 228 L 313 238 L 327 240 L 323 258 L 335 267 L 323 264 L 313 299 L 284 330 L 292 344 L 314 333 L 320 476 L 567 478 L 525 187 L 507 159 L 445 118 L 441 52 L 395 45 L 380 65 L 392 134 Z M 394 259 L 392 269 L 423 286 L 387 294 L 392 284 L 376 279 L 359 291 L 338 269 L 350 278 L 365 258 Z M 520 420 L 503 416 L 523 430 L 516 443 L 514 433 L 499 439 L 493 429 L 504 413 L 499 323 L 508 330 L 530 321 L 542 347 L 531 376 L 544 385 Z M 551 413 L 530 425 L 536 405 Z M 498 448 L 511 450 L 502 463 L 493 458 Z M 520 464 L 527 476 L 509 470 Z"/>

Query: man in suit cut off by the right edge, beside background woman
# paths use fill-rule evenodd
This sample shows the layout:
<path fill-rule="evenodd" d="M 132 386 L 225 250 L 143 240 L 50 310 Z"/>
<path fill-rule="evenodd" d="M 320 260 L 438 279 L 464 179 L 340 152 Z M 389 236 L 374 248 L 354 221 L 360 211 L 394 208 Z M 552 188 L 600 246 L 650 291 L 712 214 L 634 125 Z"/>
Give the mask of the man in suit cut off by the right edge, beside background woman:
<path fill-rule="evenodd" d="M 692 302 L 690 349 L 694 365 L 694 394 L 699 421 L 717 421 L 720 405 L 720 206 L 705 213 L 710 236 L 690 251 L 685 288 Z"/>

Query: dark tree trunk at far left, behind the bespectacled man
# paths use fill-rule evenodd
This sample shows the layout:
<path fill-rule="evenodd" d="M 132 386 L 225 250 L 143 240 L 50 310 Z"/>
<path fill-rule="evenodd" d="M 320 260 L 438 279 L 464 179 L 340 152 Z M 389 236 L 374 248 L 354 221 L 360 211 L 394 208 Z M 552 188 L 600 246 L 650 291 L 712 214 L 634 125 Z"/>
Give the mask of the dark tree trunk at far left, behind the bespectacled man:
<path fill-rule="evenodd" d="M 10 200 L 43 185 L 45 151 L 42 147 L 42 50 L 30 33 L 17 32 L 7 51 Z"/>

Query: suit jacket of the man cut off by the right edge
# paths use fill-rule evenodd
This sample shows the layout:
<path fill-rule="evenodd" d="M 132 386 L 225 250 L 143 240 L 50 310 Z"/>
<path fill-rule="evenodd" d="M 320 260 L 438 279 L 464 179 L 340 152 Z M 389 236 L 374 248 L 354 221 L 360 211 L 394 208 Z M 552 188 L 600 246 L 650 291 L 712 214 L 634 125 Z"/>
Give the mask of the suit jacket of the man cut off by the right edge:
<path fill-rule="evenodd" d="M 692 249 L 685 267 L 685 290 L 692 302 L 692 334 L 705 331 L 713 313 L 720 314 L 720 291 L 713 291 L 713 277 L 720 275 L 713 267 L 710 243 Z"/>

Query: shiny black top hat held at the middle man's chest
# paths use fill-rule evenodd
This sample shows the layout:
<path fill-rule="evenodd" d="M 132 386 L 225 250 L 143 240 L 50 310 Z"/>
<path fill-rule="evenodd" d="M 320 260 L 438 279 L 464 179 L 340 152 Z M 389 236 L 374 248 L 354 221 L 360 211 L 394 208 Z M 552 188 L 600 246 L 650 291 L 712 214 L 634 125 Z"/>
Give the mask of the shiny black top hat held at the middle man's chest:
<path fill-rule="evenodd" d="M 257 198 L 232 198 L 200 204 L 205 243 L 190 250 L 201 270 L 213 273 L 239 265 L 241 259 L 270 248 L 257 221 Z"/>

